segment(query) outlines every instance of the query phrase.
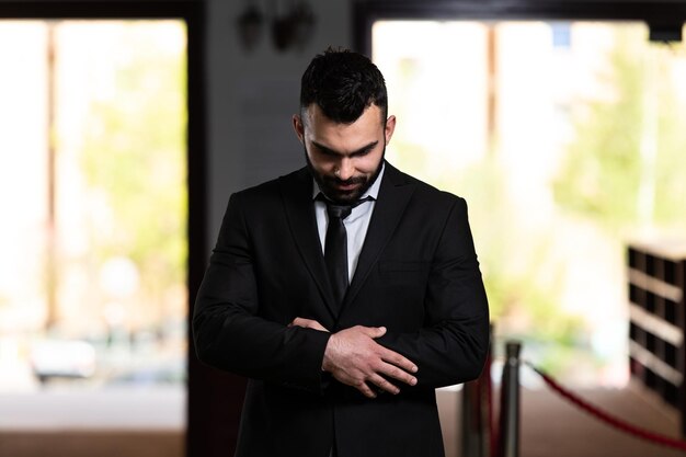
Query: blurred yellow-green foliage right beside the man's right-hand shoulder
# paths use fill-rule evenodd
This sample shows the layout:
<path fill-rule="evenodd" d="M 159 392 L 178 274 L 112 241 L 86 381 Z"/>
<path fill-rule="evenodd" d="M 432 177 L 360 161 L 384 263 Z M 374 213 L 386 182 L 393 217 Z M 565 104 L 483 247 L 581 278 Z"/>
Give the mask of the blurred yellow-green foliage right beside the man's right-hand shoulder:
<path fill-rule="evenodd" d="M 507 171 L 496 155 L 437 181 L 442 188 L 464 195 L 470 212 L 477 252 L 489 296 L 491 320 L 516 321 L 537 338 L 578 345 L 584 322 L 561 309 L 564 265 L 549 255 L 554 233 L 523 226 L 506 192 Z M 512 331 L 512 329 L 511 329 Z M 498 332 L 498 328 L 496 328 Z"/>

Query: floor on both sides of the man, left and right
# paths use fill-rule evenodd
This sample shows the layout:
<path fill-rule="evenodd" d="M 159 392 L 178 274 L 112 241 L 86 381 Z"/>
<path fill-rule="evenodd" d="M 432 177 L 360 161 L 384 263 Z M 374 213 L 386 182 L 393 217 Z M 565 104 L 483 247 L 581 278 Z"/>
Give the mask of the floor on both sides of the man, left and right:
<path fill-rule="evenodd" d="M 636 425 L 672 437 L 678 436 L 676 412 L 639 386 L 624 389 L 578 391 L 587 401 Z M 461 393 L 437 391 L 446 444 L 446 457 L 458 457 Z M 2 457 L 183 457 L 184 398 L 169 392 L 146 396 L 150 403 L 134 397 L 126 405 L 116 396 L 107 400 L 62 398 L 60 418 L 71 426 L 60 427 L 57 415 L 47 414 L 38 425 L 22 425 L 34 415 L 36 401 L 24 397 L 0 398 L 0 456 Z M 83 399 L 81 399 L 83 400 Z M 119 402 L 119 414 L 103 414 L 103 402 Z M 32 405 L 32 402 L 34 403 Z M 100 402 L 100 403 L 99 403 Z M 69 404 L 65 407 L 65 404 Z M 20 411 L 24 411 L 21 413 Z M 85 412 L 85 420 L 76 419 Z M 12 415 L 15 421 L 8 420 Z M 146 419 L 148 418 L 148 419 Z M 157 418 L 157 425 L 150 418 Z M 38 418 L 41 419 L 41 418 Z M 103 427 L 111 421 L 117 426 Z M 147 425 L 144 423 L 147 422 Z M 80 425 L 75 426 L 77 423 Z M 568 403 L 548 388 L 522 389 L 521 457 L 676 457 L 686 454 L 644 442 L 616 431 Z M 421 456 L 418 456 L 421 457 Z M 466 457 L 466 456 L 465 456 Z"/>

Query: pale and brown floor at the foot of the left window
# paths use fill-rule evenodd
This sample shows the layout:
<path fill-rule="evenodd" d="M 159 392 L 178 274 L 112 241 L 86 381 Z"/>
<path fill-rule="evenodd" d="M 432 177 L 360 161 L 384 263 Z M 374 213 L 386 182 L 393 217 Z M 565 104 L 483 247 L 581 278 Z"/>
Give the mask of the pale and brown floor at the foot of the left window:
<path fill-rule="evenodd" d="M 0 396 L 0 457 L 183 457 L 182 388 Z"/>

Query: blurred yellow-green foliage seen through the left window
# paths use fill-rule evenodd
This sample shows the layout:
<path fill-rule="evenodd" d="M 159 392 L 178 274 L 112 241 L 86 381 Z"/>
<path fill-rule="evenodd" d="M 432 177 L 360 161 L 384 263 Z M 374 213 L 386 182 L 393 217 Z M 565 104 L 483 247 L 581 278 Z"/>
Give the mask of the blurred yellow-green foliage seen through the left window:
<path fill-rule="evenodd" d="M 82 169 L 115 221 L 93 237 L 96 262 L 132 259 L 144 292 L 163 299 L 186 281 L 186 58 L 129 27 L 115 94 L 90 107 Z"/>

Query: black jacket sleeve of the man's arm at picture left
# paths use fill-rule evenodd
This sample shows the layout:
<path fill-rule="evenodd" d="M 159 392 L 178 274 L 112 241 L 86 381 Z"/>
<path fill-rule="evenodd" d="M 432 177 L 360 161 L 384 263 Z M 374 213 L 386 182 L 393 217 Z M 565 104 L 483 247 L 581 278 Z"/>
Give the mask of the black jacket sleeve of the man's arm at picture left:
<path fill-rule="evenodd" d="M 320 392 L 329 333 L 260 316 L 245 209 L 241 194 L 232 195 L 196 297 L 193 335 L 198 358 L 235 374 Z"/>

